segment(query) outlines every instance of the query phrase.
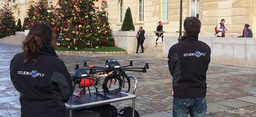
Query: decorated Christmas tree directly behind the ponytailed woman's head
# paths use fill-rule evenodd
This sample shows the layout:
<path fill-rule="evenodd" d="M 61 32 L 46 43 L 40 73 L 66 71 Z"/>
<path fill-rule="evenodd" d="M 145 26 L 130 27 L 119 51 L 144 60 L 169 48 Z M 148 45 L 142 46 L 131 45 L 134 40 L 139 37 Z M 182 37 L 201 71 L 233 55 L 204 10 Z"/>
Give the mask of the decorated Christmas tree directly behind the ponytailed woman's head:
<path fill-rule="evenodd" d="M 55 20 L 54 8 L 52 5 L 51 8 L 49 8 L 46 6 L 45 2 L 47 1 L 39 0 L 37 3 L 30 1 L 31 5 L 27 12 L 28 17 L 24 18 L 23 27 L 25 30 L 29 30 L 35 23 L 47 23 L 53 27 Z M 52 1 L 50 3 L 52 3 Z"/>

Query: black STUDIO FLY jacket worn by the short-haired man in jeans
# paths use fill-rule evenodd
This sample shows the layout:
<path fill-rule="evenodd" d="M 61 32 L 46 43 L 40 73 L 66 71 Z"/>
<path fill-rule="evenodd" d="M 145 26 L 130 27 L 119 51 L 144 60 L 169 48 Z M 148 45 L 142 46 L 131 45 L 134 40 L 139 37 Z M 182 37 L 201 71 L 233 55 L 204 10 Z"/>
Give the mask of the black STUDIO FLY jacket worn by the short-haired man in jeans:
<path fill-rule="evenodd" d="M 168 54 L 172 78 L 173 97 L 180 99 L 206 96 L 206 71 L 210 63 L 211 48 L 198 37 L 183 36 Z"/>

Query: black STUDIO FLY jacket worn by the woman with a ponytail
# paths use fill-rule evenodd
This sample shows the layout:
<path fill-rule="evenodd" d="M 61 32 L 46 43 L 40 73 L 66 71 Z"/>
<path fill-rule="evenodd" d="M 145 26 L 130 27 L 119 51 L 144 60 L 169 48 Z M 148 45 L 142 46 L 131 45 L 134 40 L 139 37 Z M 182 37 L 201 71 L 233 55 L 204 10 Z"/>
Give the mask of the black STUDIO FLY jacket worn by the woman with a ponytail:
<path fill-rule="evenodd" d="M 10 78 L 20 92 L 21 117 L 65 117 L 65 102 L 73 90 L 71 75 L 56 54 L 45 51 L 36 57 L 37 63 L 23 64 L 24 52 L 10 62 Z"/>

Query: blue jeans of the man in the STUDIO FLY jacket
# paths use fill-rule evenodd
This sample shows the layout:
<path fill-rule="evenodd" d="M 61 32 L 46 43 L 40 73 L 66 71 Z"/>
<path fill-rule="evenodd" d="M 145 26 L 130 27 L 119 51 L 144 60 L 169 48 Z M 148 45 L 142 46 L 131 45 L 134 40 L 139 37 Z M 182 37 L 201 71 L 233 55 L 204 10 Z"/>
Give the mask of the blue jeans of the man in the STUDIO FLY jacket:
<path fill-rule="evenodd" d="M 179 99 L 173 97 L 172 117 L 205 117 L 207 110 L 205 97 Z"/>

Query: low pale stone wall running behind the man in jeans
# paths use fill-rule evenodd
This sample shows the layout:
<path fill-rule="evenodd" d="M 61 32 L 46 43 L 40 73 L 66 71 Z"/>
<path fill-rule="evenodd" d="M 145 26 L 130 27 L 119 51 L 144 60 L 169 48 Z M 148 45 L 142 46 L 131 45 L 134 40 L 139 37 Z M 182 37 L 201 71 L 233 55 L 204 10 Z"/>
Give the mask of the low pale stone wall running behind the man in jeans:
<path fill-rule="evenodd" d="M 115 46 L 123 48 L 128 54 L 136 50 L 136 31 L 113 31 Z M 144 47 L 154 47 L 154 33 L 145 33 Z M 200 41 L 207 43 L 211 49 L 211 62 L 234 66 L 256 68 L 256 38 L 217 38 L 199 37 Z M 178 36 L 165 36 L 163 39 L 163 56 L 168 56 L 169 48 L 178 43 Z"/>

